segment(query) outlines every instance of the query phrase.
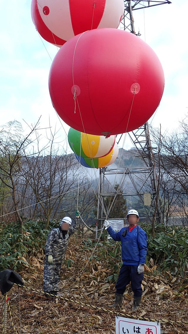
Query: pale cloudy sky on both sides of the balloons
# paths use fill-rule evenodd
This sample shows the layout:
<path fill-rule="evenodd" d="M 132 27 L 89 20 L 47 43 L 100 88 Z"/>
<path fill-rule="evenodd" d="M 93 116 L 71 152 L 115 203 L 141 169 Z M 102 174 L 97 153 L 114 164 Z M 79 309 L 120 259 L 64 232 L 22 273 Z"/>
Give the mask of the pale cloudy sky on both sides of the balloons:
<path fill-rule="evenodd" d="M 23 124 L 50 125 L 64 130 L 52 107 L 48 91 L 48 74 L 57 48 L 41 41 L 30 15 L 29 0 L 1 1 L 0 125 L 14 119 Z M 171 132 L 188 111 L 188 1 L 172 0 L 133 12 L 135 30 L 157 53 L 165 73 L 165 90 L 152 125 Z M 44 44 L 43 44 L 44 43 Z M 45 46 L 44 46 L 45 45 Z M 47 49 L 47 50 L 46 50 Z M 50 59 L 51 57 L 51 59 Z M 151 123 L 151 120 L 149 123 Z M 65 132 L 69 127 L 62 122 Z M 27 131 L 27 129 L 26 129 Z"/>

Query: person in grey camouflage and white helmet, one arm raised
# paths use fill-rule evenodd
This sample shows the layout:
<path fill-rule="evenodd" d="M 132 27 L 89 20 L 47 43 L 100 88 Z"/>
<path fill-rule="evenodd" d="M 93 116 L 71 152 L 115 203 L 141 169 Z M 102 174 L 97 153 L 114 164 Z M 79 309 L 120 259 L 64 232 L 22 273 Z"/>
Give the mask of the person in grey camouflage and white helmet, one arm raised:
<path fill-rule="evenodd" d="M 43 290 L 50 295 L 57 296 L 57 292 L 59 291 L 60 270 L 65 259 L 68 239 L 78 228 L 79 211 L 76 210 L 75 214 L 76 223 L 74 226 L 71 226 L 72 220 L 70 217 L 64 217 L 61 220 L 60 226 L 52 228 L 47 236 L 45 244 Z"/>

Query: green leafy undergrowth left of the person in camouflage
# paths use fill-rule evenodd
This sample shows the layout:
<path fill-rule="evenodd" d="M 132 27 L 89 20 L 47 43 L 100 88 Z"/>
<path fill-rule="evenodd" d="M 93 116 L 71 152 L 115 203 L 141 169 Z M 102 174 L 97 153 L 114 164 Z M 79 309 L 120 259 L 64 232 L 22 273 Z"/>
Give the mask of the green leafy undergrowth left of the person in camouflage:
<path fill-rule="evenodd" d="M 43 229 L 44 222 L 25 221 L 23 235 L 19 232 L 19 225 L 2 223 L 0 229 L 0 271 L 12 269 L 14 271 L 26 266 L 27 258 L 44 253 L 44 245 L 48 230 Z"/>

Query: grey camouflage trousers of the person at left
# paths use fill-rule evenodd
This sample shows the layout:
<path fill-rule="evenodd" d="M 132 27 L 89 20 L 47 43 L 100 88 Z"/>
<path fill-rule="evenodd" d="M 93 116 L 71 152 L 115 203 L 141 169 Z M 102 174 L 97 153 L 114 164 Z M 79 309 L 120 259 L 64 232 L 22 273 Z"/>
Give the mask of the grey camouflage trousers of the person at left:
<path fill-rule="evenodd" d="M 48 263 L 48 257 L 44 262 L 43 290 L 59 291 L 58 283 L 60 280 L 61 263 Z"/>

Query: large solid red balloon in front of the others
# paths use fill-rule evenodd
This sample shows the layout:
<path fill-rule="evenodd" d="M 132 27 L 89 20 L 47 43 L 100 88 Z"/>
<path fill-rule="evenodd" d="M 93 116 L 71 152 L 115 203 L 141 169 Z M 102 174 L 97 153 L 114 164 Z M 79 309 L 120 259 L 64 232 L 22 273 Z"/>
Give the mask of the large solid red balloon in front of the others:
<path fill-rule="evenodd" d="M 94 135 L 132 131 L 157 109 L 164 72 L 142 39 L 119 29 L 95 29 L 71 38 L 50 69 L 52 104 L 72 128 Z"/>

